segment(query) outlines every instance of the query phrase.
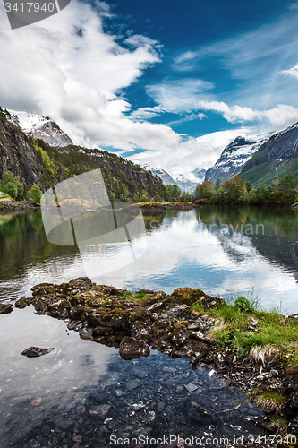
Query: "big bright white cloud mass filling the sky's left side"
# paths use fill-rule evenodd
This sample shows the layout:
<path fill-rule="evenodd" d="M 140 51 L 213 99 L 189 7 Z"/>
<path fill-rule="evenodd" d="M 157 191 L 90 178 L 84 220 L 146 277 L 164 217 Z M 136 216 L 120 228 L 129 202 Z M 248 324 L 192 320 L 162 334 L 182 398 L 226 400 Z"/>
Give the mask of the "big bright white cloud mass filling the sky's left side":
<path fill-rule="evenodd" d="M 130 120 L 121 93 L 160 62 L 160 45 L 136 35 L 121 46 L 103 30 L 108 14 L 105 3 L 72 0 L 61 13 L 13 31 L 2 14 L 1 104 L 51 116 L 78 144 L 169 151 L 180 135 Z"/>

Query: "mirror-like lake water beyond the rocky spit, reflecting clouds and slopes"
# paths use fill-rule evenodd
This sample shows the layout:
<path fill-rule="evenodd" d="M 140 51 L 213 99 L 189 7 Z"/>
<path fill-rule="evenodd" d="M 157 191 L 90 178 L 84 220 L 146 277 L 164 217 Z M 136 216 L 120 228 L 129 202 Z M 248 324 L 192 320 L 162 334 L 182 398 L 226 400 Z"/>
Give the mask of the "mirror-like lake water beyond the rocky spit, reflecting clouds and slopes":
<path fill-rule="evenodd" d="M 137 240 L 149 247 L 147 253 L 117 271 L 94 275 L 93 280 L 127 289 L 172 292 L 190 286 L 221 296 L 252 293 L 264 306 L 298 311 L 296 211 L 204 206 L 150 213 L 144 220 L 146 231 Z M 94 260 L 98 250 L 101 258 L 108 259 L 115 246 L 89 246 Z M 47 241 L 39 211 L 1 215 L 0 251 L 3 298 L 28 295 L 30 287 L 41 281 L 60 283 L 86 275 L 76 246 Z"/>

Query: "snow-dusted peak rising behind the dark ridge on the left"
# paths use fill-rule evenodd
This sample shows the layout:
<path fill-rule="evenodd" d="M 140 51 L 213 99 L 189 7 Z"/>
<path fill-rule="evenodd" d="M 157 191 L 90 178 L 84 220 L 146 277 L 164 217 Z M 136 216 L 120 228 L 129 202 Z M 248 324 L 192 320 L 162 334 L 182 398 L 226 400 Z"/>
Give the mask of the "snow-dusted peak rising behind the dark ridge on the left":
<path fill-rule="evenodd" d="M 30 133 L 50 146 L 67 146 L 73 144 L 72 139 L 49 116 L 30 114 L 16 110 L 8 110 L 7 119 L 19 125 L 24 133 Z"/>

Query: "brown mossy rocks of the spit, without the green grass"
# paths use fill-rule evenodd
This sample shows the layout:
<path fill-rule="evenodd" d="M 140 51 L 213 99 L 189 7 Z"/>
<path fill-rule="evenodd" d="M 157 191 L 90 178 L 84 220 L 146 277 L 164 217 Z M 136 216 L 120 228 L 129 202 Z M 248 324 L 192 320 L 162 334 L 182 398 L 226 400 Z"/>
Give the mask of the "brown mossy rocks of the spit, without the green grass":
<path fill-rule="evenodd" d="M 201 312 L 194 304 L 200 304 Z M 213 337 L 217 319 L 208 314 L 224 304 L 200 289 L 180 288 L 166 295 L 79 278 L 61 285 L 39 284 L 32 288 L 32 297 L 19 299 L 15 306 L 33 305 L 38 314 L 64 319 L 81 339 L 118 347 L 123 359 L 146 357 L 152 348 L 171 358 L 189 359 L 193 370 L 214 369 L 226 387 L 239 387 L 264 410 L 265 417 L 251 418 L 255 425 L 267 434 L 298 435 L 298 368 L 288 368 L 274 352 L 258 360 L 220 347 Z"/>

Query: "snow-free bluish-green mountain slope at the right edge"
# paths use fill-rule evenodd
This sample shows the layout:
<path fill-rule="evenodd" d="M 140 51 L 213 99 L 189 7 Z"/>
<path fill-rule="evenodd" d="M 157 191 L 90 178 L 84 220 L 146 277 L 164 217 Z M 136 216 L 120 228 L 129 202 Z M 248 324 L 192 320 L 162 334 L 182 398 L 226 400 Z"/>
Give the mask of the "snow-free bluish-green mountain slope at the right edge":
<path fill-rule="evenodd" d="M 252 185 L 271 185 L 292 172 L 298 177 L 298 123 L 271 135 L 244 165 L 240 176 Z"/>

